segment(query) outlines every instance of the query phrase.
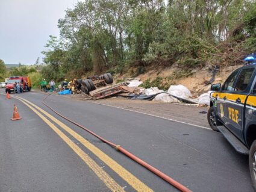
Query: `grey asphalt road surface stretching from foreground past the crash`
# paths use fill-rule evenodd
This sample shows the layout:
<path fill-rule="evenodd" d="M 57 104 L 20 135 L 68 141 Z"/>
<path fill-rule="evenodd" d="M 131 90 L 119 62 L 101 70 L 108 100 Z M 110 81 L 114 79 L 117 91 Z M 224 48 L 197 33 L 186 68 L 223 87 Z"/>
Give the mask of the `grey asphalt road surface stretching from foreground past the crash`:
<path fill-rule="evenodd" d="M 0 93 L 4 93 L 3 90 Z M 11 97 L 14 94 L 11 94 Z M 15 94 L 17 96 L 17 94 Z M 19 94 L 71 128 L 81 139 L 110 156 L 122 169 L 117 172 L 110 164 L 84 146 L 79 138 L 51 120 L 67 138 L 23 102 L 5 99 L 0 94 L 0 191 L 111 191 L 113 186 L 136 191 L 136 186 L 154 191 L 177 191 L 133 160 L 102 143 L 81 128 L 52 113 L 36 92 Z M 192 191 L 253 191 L 248 156 L 240 155 L 217 132 L 184 123 L 172 122 L 146 114 L 107 107 L 86 101 L 73 101 L 49 96 L 47 104 L 64 116 L 120 144 Z M 13 104 L 17 104 L 22 120 L 11 121 Z M 72 147 L 68 141 L 77 147 Z M 70 142 L 69 142 L 70 143 Z M 86 154 L 102 173 L 95 172 L 81 158 Z M 80 154 L 80 155 L 79 155 Z M 91 160 L 90 160 L 91 162 Z M 131 173 L 134 182 L 122 176 Z M 98 174 L 98 175 L 97 175 Z M 100 175 L 107 175 L 108 180 Z M 135 179 L 134 179 L 135 178 Z M 112 180 L 111 180 L 112 179 Z M 131 184 L 133 183 L 133 184 Z M 137 184 L 137 185 L 136 185 Z M 144 186 L 144 188 L 143 188 Z"/>

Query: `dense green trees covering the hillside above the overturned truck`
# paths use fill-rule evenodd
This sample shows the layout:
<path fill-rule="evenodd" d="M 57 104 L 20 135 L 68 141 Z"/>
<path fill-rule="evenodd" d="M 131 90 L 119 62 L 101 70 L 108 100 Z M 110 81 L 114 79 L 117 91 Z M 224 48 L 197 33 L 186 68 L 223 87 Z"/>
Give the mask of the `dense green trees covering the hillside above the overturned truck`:
<path fill-rule="evenodd" d="M 60 39 L 49 36 L 42 52 L 46 65 L 39 78 L 59 82 L 102 72 L 133 77 L 175 64 L 181 70 L 173 76 L 144 83 L 166 89 L 166 82 L 192 69 L 240 64 L 255 52 L 256 2 L 86 0 L 67 9 L 58 28 Z"/>

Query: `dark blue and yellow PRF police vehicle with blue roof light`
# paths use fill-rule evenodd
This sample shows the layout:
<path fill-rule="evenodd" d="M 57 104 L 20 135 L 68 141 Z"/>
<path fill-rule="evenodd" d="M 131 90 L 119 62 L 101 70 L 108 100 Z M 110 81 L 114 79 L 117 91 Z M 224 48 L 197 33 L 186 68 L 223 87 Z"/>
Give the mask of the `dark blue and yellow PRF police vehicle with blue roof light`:
<path fill-rule="evenodd" d="M 249 155 L 249 170 L 256 191 L 256 56 L 234 70 L 223 85 L 211 85 L 208 123 L 223 134 L 239 153 Z"/>

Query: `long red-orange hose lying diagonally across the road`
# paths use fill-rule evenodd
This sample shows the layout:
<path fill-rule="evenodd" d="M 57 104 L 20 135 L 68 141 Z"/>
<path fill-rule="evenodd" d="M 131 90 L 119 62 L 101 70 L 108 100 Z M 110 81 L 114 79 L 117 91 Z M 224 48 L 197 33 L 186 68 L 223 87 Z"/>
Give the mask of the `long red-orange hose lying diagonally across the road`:
<path fill-rule="evenodd" d="M 85 131 L 89 132 L 90 134 L 94 135 L 95 137 L 99 138 L 99 140 L 103 141 L 104 143 L 109 144 L 110 146 L 116 148 L 116 150 L 118 150 L 119 152 L 123 153 L 124 155 L 128 156 L 129 158 L 133 159 L 134 161 L 136 161 L 137 163 L 139 163 L 141 166 L 145 167 L 146 169 L 150 170 L 152 173 L 154 173 L 155 175 L 159 176 L 161 179 L 163 179 L 164 181 L 168 182 L 169 184 L 173 185 L 173 187 L 176 187 L 178 190 L 183 191 L 183 192 L 192 192 L 191 190 L 189 190 L 189 188 L 185 187 L 184 185 L 180 184 L 178 181 L 175 181 L 174 179 L 170 178 L 170 176 L 167 176 L 166 174 L 164 174 L 163 172 L 161 172 L 160 170 L 156 169 L 155 167 L 151 166 L 150 164 L 146 163 L 145 161 L 143 161 L 142 159 L 138 158 L 137 156 L 133 155 L 132 153 L 128 152 L 127 150 L 123 149 L 123 147 L 121 147 L 120 145 L 114 144 L 108 140 L 105 140 L 105 138 L 102 138 L 101 136 L 97 135 L 95 132 L 90 131 L 89 129 L 85 128 L 84 126 L 73 122 L 72 120 L 68 119 L 67 117 L 63 116 L 62 114 L 58 113 L 57 111 L 55 111 L 53 108 L 49 107 L 49 105 L 47 105 L 45 103 L 46 98 L 48 98 L 48 96 L 51 94 L 48 94 L 42 101 L 43 105 L 45 105 L 46 107 L 48 107 L 50 110 L 52 110 L 55 114 L 57 114 L 58 116 L 62 117 L 63 119 L 66 119 L 67 121 L 69 121 L 70 123 L 73 123 L 74 125 L 84 129 Z"/>

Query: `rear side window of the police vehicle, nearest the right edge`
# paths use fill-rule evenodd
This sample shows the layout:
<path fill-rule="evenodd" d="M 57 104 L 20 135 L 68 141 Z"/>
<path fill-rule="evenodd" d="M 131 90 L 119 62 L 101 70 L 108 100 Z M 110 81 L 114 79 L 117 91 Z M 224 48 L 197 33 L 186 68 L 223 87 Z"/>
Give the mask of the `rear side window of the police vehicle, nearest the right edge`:
<path fill-rule="evenodd" d="M 236 87 L 234 91 L 245 91 L 248 87 L 254 68 L 243 69 L 237 79 Z"/>

